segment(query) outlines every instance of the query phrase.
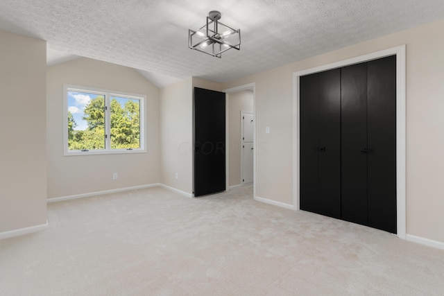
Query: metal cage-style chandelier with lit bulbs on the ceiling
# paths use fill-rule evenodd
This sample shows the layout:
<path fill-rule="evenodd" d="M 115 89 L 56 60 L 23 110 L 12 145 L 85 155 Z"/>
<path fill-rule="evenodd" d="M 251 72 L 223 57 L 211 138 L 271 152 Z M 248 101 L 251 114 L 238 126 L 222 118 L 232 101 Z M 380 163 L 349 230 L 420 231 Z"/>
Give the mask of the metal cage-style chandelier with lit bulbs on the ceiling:
<path fill-rule="evenodd" d="M 228 49 L 241 49 L 241 30 L 219 22 L 222 14 L 212 10 L 208 13 L 207 24 L 197 31 L 188 30 L 189 48 L 222 58 Z"/>

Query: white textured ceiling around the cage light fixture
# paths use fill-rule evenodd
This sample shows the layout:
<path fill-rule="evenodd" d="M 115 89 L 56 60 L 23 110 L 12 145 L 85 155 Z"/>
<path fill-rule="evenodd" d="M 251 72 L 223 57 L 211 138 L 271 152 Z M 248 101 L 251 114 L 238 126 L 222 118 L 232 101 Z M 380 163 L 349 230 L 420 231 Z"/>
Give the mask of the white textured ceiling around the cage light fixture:
<path fill-rule="evenodd" d="M 210 10 L 241 29 L 241 50 L 191 51 Z M 47 62 L 79 56 L 133 67 L 158 87 L 228 82 L 444 18 L 443 0 L 0 0 L 0 29 L 46 40 Z"/>

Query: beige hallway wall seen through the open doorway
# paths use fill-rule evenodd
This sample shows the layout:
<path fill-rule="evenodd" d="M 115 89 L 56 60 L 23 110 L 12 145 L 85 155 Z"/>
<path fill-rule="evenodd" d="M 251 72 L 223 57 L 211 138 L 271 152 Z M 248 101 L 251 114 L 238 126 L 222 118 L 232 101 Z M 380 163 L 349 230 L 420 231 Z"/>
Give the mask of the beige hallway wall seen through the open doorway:
<path fill-rule="evenodd" d="M 230 186 L 242 184 L 241 176 L 241 111 L 253 112 L 253 91 L 228 95 L 228 126 L 230 140 Z"/>

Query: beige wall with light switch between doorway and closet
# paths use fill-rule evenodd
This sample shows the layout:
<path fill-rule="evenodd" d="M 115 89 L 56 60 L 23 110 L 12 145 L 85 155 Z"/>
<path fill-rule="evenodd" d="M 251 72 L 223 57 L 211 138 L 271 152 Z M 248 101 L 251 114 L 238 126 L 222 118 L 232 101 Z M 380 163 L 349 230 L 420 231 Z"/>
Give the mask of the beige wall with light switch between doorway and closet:
<path fill-rule="evenodd" d="M 289 66 L 232 81 L 225 89 L 255 82 L 256 195 L 293 204 L 292 73 Z M 270 133 L 265 133 L 266 126 Z"/>

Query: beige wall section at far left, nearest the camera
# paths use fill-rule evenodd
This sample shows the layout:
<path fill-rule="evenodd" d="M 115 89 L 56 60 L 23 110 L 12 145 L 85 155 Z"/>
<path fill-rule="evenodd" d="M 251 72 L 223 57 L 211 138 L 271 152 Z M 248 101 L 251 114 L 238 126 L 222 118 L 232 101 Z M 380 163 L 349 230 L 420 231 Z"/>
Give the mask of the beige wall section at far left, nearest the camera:
<path fill-rule="evenodd" d="M 46 42 L 0 31 L 0 232 L 46 224 Z"/>

